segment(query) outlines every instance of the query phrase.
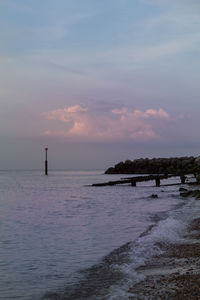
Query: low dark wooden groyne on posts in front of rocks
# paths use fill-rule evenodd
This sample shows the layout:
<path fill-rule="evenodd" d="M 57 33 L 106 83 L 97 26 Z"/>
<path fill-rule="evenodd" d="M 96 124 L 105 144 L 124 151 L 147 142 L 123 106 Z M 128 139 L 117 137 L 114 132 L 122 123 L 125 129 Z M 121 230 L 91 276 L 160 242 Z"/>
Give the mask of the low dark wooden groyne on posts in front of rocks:
<path fill-rule="evenodd" d="M 94 183 L 92 186 L 112 186 L 118 184 L 131 184 L 132 186 L 136 186 L 137 182 L 144 182 L 155 180 L 155 185 L 160 186 L 160 181 L 162 179 L 168 179 L 171 177 L 176 177 L 176 175 L 147 175 L 147 176 L 135 176 L 135 177 L 127 177 L 121 178 L 120 180 L 108 181 L 103 183 Z M 181 183 L 185 183 L 186 177 L 184 175 L 180 176 Z"/>

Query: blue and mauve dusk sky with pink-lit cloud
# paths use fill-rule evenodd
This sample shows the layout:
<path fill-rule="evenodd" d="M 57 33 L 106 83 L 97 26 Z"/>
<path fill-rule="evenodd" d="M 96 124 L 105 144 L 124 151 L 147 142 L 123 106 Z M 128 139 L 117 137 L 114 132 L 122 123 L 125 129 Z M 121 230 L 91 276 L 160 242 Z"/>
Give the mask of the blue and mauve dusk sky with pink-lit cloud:
<path fill-rule="evenodd" d="M 0 170 L 200 155 L 199 0 L 0 0 Z"/>

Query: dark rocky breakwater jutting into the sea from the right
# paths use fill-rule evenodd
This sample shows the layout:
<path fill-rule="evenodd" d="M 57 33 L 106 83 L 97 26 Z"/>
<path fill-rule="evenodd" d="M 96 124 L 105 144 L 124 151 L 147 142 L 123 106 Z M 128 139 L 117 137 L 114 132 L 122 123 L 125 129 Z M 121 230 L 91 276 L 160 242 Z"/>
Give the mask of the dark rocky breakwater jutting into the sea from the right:
<path fill-rule="evenodd" d="M 200 156 L 140 158 L 126 160 L 106 170 L 105 174 L 200 174 Z"/>

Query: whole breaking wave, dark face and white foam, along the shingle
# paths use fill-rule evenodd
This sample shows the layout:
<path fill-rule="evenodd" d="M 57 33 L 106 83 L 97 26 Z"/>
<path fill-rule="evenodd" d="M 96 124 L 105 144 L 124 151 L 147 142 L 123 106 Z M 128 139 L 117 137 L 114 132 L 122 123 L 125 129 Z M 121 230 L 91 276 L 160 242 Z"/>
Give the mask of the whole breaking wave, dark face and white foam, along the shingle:
<path fill-rule="evenodd" d="M 138 268 L 152 257 L 162 254 L 166 245 L 183 240 L 188 219 L 193 215 L 192 205 L 192 200 L 188 201 L 166 219 L 158 219 L 137 240 L 113 250 L 99 264 L 81 270 L 81 278 L 77 283 L 62 292 L 48 293 L 42 299 L 129 299 L 129 289 L 145 278 Z"/>

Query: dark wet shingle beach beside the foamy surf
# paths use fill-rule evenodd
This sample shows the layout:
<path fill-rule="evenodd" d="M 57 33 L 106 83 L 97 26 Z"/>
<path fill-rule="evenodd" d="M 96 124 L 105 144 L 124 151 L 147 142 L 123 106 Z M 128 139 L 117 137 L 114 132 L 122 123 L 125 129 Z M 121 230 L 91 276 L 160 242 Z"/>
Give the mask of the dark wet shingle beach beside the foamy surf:
<path fill-rule="evenodd" d="M 200 218 L 189 225 L 183 244 L 163 246 L 164 253 L 138 269 L 146 279 L 132 287 L 129 299 L 200 299 Z"/>

